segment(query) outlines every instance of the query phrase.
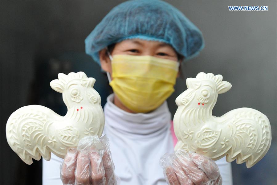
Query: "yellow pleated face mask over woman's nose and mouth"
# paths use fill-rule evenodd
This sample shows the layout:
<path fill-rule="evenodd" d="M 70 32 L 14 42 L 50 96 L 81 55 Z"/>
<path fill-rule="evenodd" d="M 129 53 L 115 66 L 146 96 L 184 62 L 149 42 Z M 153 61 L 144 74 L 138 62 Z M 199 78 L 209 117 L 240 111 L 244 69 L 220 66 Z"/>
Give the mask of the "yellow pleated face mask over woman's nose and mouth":
<path fill-rule="evenodd" d="M 110 86 L 128 109 L 147 113 L 173 92 L 179 63 L 150 55 L 114 55 Z M 109 76 L 108 76 L 109 77 Z"/>

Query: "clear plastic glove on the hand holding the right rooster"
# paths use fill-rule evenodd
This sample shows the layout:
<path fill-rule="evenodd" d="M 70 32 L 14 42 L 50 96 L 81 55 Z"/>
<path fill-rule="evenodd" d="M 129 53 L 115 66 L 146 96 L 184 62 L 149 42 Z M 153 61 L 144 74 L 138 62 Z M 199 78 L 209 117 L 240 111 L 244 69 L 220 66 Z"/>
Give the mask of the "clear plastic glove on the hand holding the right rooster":
<path fill-rule="evenodd" d="M 221 185 L 222 178 L 216 163 L 205 156 L 178 149 L 160 159 L 168 184 Z"/>

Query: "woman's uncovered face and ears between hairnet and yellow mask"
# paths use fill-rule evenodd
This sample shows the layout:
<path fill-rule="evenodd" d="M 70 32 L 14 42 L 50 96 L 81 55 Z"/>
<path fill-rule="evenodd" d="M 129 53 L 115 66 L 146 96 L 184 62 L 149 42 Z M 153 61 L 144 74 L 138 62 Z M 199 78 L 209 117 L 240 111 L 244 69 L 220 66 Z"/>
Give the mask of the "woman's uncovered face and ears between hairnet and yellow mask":
<path fill-rule="evenodd" d="M 162 59 L 178 61 L 176 51 L 169 44 L 142 39 L 127 39 L 116 43 L 111 55 L 151 55 Z M 106 49 L 99 51 L 101 68 L 109 72 L 112 78 L 112 64 L 106 53 Z M 183 57 L 180 58 L 182 61 Z M 179 68 L 180 72 L 180 68 Z M 179 72 L 177 77 L 179 76 Z"/>

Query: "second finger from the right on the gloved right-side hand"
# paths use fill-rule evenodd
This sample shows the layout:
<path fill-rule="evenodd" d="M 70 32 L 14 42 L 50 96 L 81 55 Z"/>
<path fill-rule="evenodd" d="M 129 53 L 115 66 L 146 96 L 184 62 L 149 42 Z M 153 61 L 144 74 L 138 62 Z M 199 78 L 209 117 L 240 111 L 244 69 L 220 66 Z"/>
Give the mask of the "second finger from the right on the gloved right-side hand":
<path fill-rule="evenodd" d="M 209 178 L 207 175 L 199 169 L 192 160 L 189 158 L 188 153 L 183 151 L 176 151 L 176 155 L 180 161 L 180 166 L 185 171 L 186 175 L 188 175 L 189 179 L 196 185 L 205 184 L 209 182 Z"/>

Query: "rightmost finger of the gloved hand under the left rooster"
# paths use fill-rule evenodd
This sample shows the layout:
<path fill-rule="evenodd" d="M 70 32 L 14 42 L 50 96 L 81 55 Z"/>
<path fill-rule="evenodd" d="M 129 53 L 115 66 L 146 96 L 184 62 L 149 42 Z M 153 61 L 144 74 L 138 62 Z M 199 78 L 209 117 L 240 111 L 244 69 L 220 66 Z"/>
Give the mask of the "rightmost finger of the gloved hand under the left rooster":
<path fill-rule="evenodd" d="M 104 151 L 102 162 L 105 170 L 106 184 L 114 184 L 115 183 L 114 164 L 112 161 L 112 154 L 110 150 Z"/>

